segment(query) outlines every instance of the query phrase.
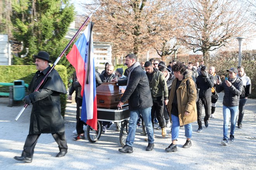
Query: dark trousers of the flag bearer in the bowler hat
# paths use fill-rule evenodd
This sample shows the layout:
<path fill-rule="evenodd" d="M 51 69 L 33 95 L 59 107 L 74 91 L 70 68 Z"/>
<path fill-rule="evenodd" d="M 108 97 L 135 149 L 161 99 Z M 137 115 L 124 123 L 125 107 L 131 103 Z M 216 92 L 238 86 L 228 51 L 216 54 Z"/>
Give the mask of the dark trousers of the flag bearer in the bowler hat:
<path fill-rule="evenodd" d="M 34 148 L 40 135 L 41 134 L 28 134 L 22 151 L 22 156 L 33 158 Z M 52 133 L 52 136 L 59 145 L 59 150 L 62 152 L 67 151 L 65 132 Z"/>

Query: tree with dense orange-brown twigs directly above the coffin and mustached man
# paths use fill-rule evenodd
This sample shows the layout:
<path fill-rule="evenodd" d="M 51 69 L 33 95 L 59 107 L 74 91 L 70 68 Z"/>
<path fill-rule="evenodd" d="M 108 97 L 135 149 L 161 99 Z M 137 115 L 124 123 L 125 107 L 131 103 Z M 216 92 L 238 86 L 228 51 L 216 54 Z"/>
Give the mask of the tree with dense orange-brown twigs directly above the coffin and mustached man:
<path fill-rule="evenodd" d="M 165 41 L 174 37 L 173 34 L 170 36 L 170 30 L 175 25 L 170 18 L 173 2 L 98 0 L 97 4 L 101 4 L 101 7 L 93 18 L 95 32 L 98 33 L 95 39 L 113 42 L 113 52 L 119 55 L 133 52 L 140 57 L 153 47 L 159 51 L 161 43 L 166 45 L 168 43 Z M 167 53 L 164 51 L 162 54 L 166 56 Z"/>

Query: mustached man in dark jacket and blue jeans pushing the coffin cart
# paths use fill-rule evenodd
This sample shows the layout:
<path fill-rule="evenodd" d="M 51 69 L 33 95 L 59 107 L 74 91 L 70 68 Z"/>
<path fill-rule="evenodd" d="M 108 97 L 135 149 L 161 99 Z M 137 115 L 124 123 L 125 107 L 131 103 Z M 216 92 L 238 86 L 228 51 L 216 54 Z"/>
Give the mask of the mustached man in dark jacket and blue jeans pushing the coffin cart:
<path fill-rule="evenodd" d="M 143 117 L 149 141 L 146 151 L 151 151 L 154 148 L 154 131 L 151 123 L 151 107 L 153 102 L 151 95 L 149 95 L 149 81 L 140 63 L 137 62 L 137 56 L 135 54 L 128 54 L 125 57 L 125 64 L 128 66 L 130 72 L 128 79 L 113 80 L 118 85 L 127 85 L 118 107 L 122 108 L 124 102 L 128 100 L 130 110 L 129 132 L 126 138 L 126 145 L 118 151 L 124 153 L 133 152 L 132 146 L 135 139 L 137 120 L 140 114 Z"/>

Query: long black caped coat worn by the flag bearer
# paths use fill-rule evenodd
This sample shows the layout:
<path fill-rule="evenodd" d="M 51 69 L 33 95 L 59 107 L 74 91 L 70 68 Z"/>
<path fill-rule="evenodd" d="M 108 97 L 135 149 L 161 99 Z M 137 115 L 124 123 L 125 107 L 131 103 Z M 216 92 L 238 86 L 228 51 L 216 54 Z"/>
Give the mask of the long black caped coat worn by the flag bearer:
<path fill-rule="evenodd" d="M 48 70 L 50 70 L 50 66 L 41 73 L 37 71 L 28 87 L 29 97 L 33 104 L 29 134 L 65 131 L 64 120 L 61 116 L 60 93 L 67 93 L 67 90 L 59 73 L 53 69 L 39 90 L 34 92 Z"/>

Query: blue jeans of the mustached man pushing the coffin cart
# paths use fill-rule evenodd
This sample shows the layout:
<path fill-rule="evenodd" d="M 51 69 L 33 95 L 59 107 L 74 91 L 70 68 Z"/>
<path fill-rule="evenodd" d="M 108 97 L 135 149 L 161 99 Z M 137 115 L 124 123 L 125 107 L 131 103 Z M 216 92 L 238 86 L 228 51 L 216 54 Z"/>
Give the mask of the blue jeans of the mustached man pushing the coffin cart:
<path fill-rule="evenodd" d="M 151 107 L 148 107 L 146 109 L 138 109 L 138 110 L 130 111 L 129 131 L 128 131 L 128 136 L 126 138 L 126 145 L 129 145 L 131 147 L 135 139 L 137 120 L 140 114 L 142 115 L 145 128 L 147 130 L 149 143 L 154 143 L 154 131 L 153 131 L 152 122 L 151 122 Z"/>

